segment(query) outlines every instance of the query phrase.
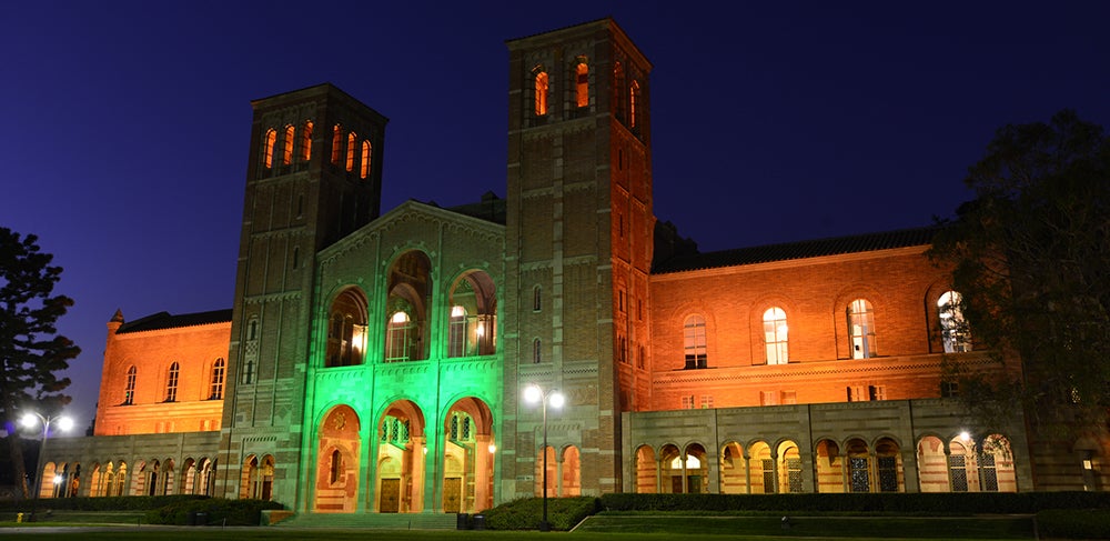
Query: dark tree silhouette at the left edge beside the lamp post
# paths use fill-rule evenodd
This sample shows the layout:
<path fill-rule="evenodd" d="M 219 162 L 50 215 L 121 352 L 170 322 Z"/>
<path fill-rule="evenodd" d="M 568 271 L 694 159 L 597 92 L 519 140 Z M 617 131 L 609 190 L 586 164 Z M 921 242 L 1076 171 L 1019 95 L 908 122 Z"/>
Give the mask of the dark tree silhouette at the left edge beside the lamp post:
<path fill-rule="evenodd" d="M 53 256 L 40 252 L 37 241 L 0 228 L 0 414 L 8 427 L 18 424 L 21 408 L 53 414 L 69 403 L 62 390 L 70 380 L 59 372 L 81 351 L 54 327 L 73 300 L 53 294 L 62 269 L 50 266 Z M 27 497 L 19 432 L 9 429 L 8 440 L 14 478 Z"/>

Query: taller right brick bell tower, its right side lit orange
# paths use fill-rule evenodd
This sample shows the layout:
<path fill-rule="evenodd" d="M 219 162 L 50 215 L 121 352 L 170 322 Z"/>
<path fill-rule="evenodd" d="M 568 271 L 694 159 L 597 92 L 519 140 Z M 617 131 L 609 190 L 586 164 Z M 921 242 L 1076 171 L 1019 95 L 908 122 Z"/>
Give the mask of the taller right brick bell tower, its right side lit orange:
<path fill-rule="evenodd" d="M 522 401 L 528 383 L 566 397 L 547 415 L 549 492 L 616 492 L 620 412 L 649 388 L 652 64 L 612 19 L 507 46 L 504 397 L 506 433 L 518 435 L 503 499 L 538 493 L 542 412 Z"/>

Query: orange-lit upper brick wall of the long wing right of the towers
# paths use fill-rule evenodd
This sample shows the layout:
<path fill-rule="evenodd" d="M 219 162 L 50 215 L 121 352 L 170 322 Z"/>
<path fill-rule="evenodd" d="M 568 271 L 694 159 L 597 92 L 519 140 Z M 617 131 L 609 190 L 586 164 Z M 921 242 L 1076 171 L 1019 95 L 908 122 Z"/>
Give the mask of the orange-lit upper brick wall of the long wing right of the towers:
<path fill-rule="evenodd" d="M 860 246 L 874 240 L 855 239 Z M 654 273 L 649 409 L 941 397 L 937 300 L 949 281 L 925 256 L 929 246 L 896 242 L 824 254 L 820 242 L 768 247 L 769 257 L 756 252 L 761 249 L 699 256 L 686 268 Z M 738 262 L 727 264 L 730 259 Z M 867 300 L 874 311 L 876 351 L 866 359 L 852 358 L 847 307 L 855 299 Z M 763 318 L 773 307 L 786 313 L 785 364 L 767 362 Z M 687 369 L 684 322 L 693 314 L 705 319 L 707 362 Z M 949 359 L 999 369 L 981 351 Z"/>

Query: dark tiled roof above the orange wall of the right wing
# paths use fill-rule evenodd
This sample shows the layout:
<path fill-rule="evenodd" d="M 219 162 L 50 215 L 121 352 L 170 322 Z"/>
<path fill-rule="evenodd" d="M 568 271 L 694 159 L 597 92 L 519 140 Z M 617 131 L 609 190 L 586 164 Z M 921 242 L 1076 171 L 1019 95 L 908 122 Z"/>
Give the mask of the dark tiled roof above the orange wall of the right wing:
<path fill-rule="evenodd" d="M 794 259 L 819 258 L 823 256 L 839 256 L 844 253 L 869 252 L 906 248 L 932 243 L 937 227 L 901 229 L 881 233 L 854 234 L 829 239 L 804 240 L 785 244 L 769 244 L 753 248 L 722 250 L 719 252 L 697 253 L 677 257 L 664 261 L 652 270 L 656 274 L 683 272 L 698 269 L 715 269 L 719 267 L 737 267 L 743 264 L 768 263 L 771 261 L 788 261 Z"/>

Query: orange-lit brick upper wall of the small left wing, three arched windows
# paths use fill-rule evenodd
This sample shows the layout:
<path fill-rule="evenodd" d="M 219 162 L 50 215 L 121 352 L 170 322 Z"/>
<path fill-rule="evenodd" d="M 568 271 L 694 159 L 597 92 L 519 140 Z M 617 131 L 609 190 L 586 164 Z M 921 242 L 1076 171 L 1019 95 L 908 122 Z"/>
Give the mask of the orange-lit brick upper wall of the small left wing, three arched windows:
<path fill-rule="evenodd" d="M 220 430 L 231 310 L 108 323 L 95 435 Z"/>

